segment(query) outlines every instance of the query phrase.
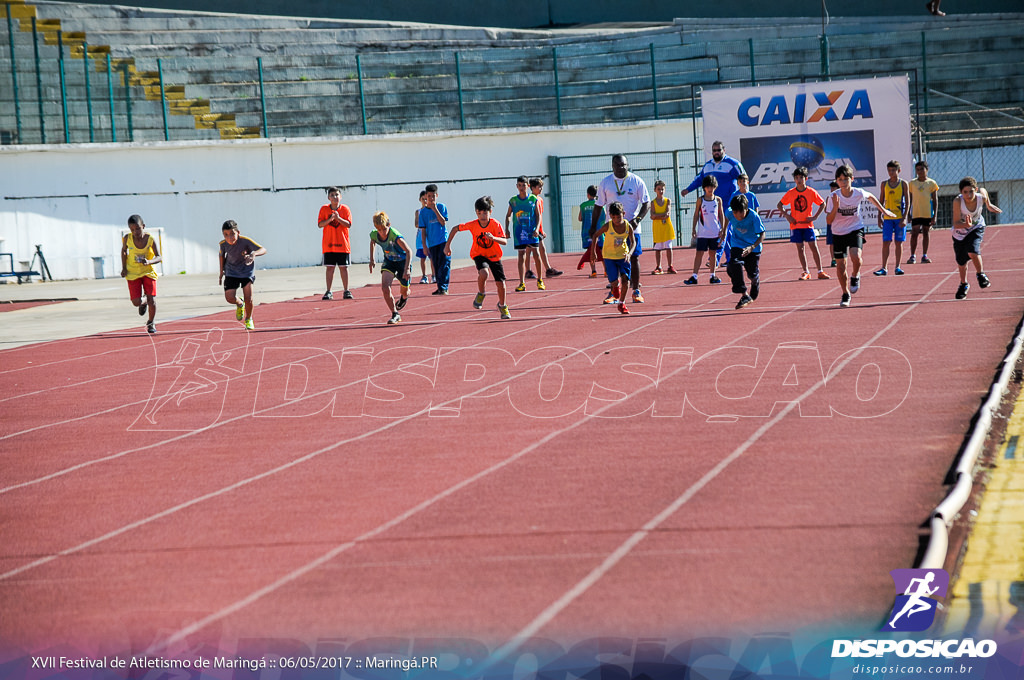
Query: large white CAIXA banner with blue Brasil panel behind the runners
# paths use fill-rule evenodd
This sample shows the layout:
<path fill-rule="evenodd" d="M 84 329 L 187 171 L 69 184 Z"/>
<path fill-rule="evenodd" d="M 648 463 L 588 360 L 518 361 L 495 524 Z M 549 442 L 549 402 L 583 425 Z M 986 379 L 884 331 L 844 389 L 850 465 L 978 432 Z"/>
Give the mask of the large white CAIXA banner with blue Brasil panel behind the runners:
<path fill-rule="evenodd" d="M 889 161 L 913 174 L 905 76 L 705 90 L 701 105 L 706 154 L 722 141 L 740 161 L 769 229 L 788 228 L 776 204 L 796 185 L 798 167 L 807 168 L 807 183 L 822 199 L 843 165 L 853 170 L 853 186 L 874 195 Z M 865 211 L 868 226 L 873 216 Z M 815 226 L 824 224 L 822 213 Z"/>

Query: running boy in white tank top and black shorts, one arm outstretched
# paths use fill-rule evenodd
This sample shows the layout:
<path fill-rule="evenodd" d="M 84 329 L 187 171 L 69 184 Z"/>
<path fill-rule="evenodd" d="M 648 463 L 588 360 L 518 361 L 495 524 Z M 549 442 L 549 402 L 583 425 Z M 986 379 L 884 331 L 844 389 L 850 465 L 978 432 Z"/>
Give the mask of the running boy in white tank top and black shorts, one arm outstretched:
<path fill-rule="evenodd" d="M 836 181 L 839 189 L 833 192 L 829 202 L 827 220 L 833 225 L 833 257 L 836 258 L 836 277 L 839 279 L 843 297 L 839 306 L 849 307 L 852 296 L 860 290 L 860 249 L 864 245 L 864 220 L 860 214 L 862 201 L 874 204 L 881 213 L 890 219 L 895 214 L 886 210 L 885 206 L 869 192 L 850 186 L 853 181 L 853 170 L 848 165 L 842 165 L 836 170 Z M 850 256 L 850 267 L 847 269 L 846 258 Z"/>

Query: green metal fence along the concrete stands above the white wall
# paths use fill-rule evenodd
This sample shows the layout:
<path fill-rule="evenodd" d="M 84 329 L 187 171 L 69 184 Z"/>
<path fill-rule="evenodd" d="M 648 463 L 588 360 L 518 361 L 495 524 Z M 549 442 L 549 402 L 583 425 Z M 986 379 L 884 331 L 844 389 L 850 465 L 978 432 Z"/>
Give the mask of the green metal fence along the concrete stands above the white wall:
<path fill-rule="evenodd" d="M 950 38 L 922 32 L 648 44 L 345 51 L 284 57 L 112 58 L 76 37 L 57 45 L 15 25 L 0 50 L 6 143 L 359 135 L 690 118 L 694 88 L 920 73 L 948 66 Z M 1013 31 L 998 37 L 1016 43 Z M 69 34 L 70 36 L 71 34 Z M 683 39 L 676 34 L 675 40 Z M 1002 43 L 999 43 L 1001 45 Z M 1017 48 L 1019 49 L 1019 48 Z M 244 52 L 245 50 L 239 50 Z M 934 53 L 934 54 L 933 54 Z M 1008 57 L 1008 58 L 1013 58 Z M 79 61 L 81 60 L 81 61 Z M 1020 71 L 1020 68 L 1018 68 Z M 1024 73 L 1021 74 L 1024 77 Z M 968 81 L 965 81 L 968 83 Z M 8 87 L 9 84 L 9 87 Z M 947 83 L 948 84 L 948 83 Z M 968 84 L 964 85 L 969 86 Z M 954 93 L 955 94 L 955 93 Z"/>

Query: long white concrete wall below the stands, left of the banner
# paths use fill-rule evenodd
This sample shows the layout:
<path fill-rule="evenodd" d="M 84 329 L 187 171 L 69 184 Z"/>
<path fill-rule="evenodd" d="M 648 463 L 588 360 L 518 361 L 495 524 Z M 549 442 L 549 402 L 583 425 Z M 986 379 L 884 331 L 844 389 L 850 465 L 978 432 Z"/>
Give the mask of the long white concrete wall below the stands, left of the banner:
<path fill-rule="evenodd" d="M 164 270 L 216 272 L 220 225 L 267 248 L 260 267 L 316 264 L 316 213 L 324 187 L 343 187 L 352 209 L 356 261 L 369 254 L 371 216 L 386 211 L 413 237 L 413 213 L 427 183 L 439 186 L 450 219 L 475 217 L 473 202 L 489 195 L 495 217 L 515 194 L 520 174 L 546 176 L 549 156 L 651 152 L 692 144 L 689 121 L 578 128 L 485 130 L 322 139 L 147 142 L 0 147 L 0 251 L 28 261 L 42 244 L 55 279 L 121 269 L 120 237 L 128 216 L 162 227 Z M 549 184 L 550 186 L 550 184 Z M 571 197 L 578 202 L 579 197 Z M 550 202 L 549 202 L 550 203 Z M 550 219 L 550 216 L 548 216 Z M 457 238 L 456 257 L 469 239 Z"/>

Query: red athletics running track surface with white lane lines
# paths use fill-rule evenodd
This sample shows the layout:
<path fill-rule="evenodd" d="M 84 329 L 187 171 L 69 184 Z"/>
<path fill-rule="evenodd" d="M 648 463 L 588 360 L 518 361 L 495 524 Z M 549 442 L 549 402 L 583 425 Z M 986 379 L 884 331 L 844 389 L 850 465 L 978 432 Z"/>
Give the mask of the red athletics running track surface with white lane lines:
<path fill-rule="evenodd" d="M 849 309 L 772 244 L 741 311 L 573 270 L 500 322 L 463 269 L 396 327 L 371 287 L 0 352 L 0 640 L 877 628 L 1024 313 L 1024 232 L 966 301 L 947 239 L 885 279 L 872 239 Z"/>

